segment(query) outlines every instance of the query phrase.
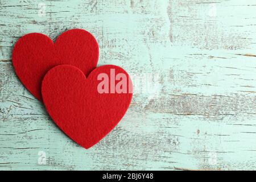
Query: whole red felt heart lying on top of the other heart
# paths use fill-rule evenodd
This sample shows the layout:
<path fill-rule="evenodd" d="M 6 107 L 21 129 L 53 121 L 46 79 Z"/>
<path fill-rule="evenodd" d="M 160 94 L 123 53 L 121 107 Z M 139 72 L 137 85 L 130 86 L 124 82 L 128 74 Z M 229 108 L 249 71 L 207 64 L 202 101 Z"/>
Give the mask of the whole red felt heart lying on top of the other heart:
<path fill-rule="evenodd" d="M 88 78 L 71 65 L 52 68 L 42 82 L 46 109 L 57 126 L 84 148 L 92 147 L 122 119 L 132 93 L 128 73 L 115 65 Z"/>

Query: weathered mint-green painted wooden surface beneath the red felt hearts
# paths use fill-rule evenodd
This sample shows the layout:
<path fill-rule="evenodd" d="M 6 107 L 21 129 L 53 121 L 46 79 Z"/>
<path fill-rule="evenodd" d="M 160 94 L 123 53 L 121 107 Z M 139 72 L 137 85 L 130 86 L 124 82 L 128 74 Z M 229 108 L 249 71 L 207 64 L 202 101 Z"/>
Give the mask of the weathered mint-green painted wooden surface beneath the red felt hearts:
<path fill-rule="evenodd" d="M 0 0 L 0 20 L 0 170 L 256 169 L 254 0 Z M 136 93 L 89 150 L 53 124 L 11 63 L 20 36 L 71 28 L 96 36 L 100 65 L 159 76 L 159 92 Z"/>

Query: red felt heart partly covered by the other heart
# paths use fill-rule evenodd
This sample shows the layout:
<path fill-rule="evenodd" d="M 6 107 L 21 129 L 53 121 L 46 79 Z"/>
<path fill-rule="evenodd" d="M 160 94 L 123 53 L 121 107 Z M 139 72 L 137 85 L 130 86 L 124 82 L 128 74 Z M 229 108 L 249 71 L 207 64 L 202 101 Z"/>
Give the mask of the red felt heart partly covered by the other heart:
<path fill-rule="evenodd" d="M 97 62 L 98 43 L 92 34 L 81 29 L 64 32 L 55 43 L 44 34 L 27 34 L 18 40 L 13 50 L 16 74 L 39 100 L 42 100 L 42 80 L 49 69 L 70 64 L 87 76 Z"/>

